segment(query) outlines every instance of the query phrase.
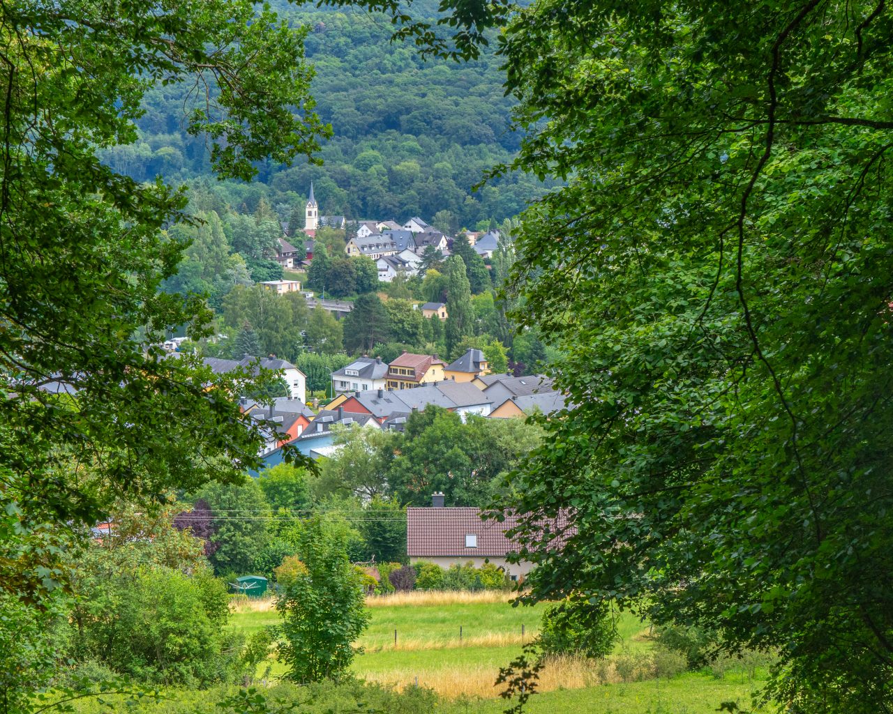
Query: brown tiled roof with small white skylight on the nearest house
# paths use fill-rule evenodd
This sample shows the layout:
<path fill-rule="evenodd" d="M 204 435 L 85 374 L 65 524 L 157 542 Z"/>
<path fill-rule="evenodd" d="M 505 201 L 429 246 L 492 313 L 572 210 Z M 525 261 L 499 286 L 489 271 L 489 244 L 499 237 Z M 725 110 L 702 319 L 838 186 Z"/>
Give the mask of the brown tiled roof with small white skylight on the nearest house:
<path fill-rule="evenodd" d="M 406 554 L 413 558 L 448 556 L 502 558 L 518 544 L 505 531 L 518 525 L 518 516 L 481 520 L 479 508 L 407 508 Z M 564 524 L 560 524 L 564 525 Z M 466 548 L 465 535 L 477 535 L 478 547 Z M 556 545 L 559 544 L 556 539 Z"/>

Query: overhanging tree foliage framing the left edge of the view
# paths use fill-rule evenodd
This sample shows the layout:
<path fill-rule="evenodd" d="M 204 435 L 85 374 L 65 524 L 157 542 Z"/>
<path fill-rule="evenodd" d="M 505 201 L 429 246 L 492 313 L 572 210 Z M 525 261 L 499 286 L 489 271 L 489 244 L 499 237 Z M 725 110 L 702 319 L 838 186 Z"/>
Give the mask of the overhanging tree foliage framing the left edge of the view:
<path fill-rule="evenodd" d="M 223 177 L 310 156 L 328 131 L 309 101 L 305 32 L 253 3 L 110 11 L 71 0 L 2 13 L 0 596 L 49 607 L 66 586 L 66 531 L 103 519 L 119 494 L 147 507 L 173 487 L 236 478 L 262 443 L 232 396 L 239 375 L 161 359 L 156 346 L 182 326 L 206 336 L 211 317 L 200 297 L 159 290 L 183 257 L 164 229 L 176 232 L 186 200 L 154 172 L 185 153 L 150 150 L 153 173 L 139 181 L 98 154 L 138 139 L 156 82 L 207 87 L 185 112 L 178 103 L 179 117 Z M 142 147 L 130 148 L 141 163 Z M 222 258 L 214 226 L 199 230 L 210 233 L 195 250 Z M 60 394 L 42 391 L 54 379 Z M 27 614 L 15 621 L 20 638 L 34 632 Z M 38 643 L 21 639 L 0 652 L 0 671 L 32 644 L 39 660 Z M 13 710 L 42 684 L 6 681 Z"/>

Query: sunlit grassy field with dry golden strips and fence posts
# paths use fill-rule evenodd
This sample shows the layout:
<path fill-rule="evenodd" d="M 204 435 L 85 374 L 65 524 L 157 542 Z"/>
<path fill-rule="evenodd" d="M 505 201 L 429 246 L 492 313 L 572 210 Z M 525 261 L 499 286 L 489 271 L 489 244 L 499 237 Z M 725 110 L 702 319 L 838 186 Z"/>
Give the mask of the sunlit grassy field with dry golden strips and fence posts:
<path fill-rule="evenodd" d="M 373 598 L 371 624 L 358 643 L 358 677 L 403 688 L 429 687 L 444 700 L 448 714 L 489 714 L 505 710 L 494 685 L 500 667 L 538 633 L 542 606 L 512 607 L 503 594 L 406 594 Z M 246 631 L 276 624 L 269 603 L 236 611 L 234 626 Z M 524 626 L 522 635 L 522 625 Z M 462 627 L 460 639 L 459 628 Z M 720 702 L 749 706 L 763 672 L 727 668 L 722 677 L 675 674 L 655 677 L 653 643 L 647 624 L 618 614 L 620 640 L 604 661 L 561 658 L 549 662 L 539 678 L 530 712 L 597 714 L 700 714 Z M 396 630 L 396 644 L 394 631 Z M 670 668 L 670 674 L 680 667 Z M 273 662 L 271 676 L 284 671 Z M 755 675 L 755 677 L 754 677 Z M 642 680 L 642 681 L 638 681 Z"/>

